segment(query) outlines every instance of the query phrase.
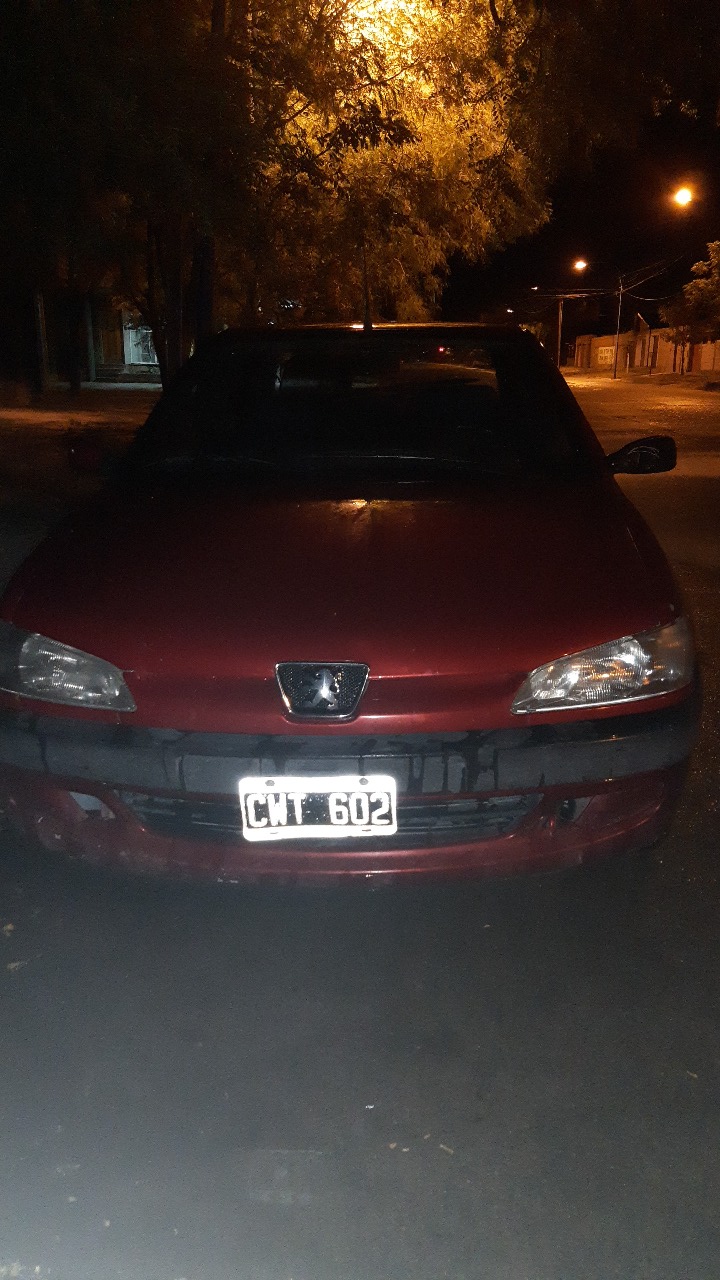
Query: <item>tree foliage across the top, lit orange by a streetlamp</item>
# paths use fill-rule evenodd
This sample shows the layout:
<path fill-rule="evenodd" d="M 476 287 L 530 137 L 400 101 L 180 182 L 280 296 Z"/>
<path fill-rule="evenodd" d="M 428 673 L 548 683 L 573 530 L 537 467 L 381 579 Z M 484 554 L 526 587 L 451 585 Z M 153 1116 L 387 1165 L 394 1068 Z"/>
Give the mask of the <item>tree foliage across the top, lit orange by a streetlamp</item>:
<path fill-rule="evenodd" d="M 0 22 L 14 274 L 76 312 L 94 288 L 135 305 L 164 378 L 213 317 L 356 319 L 368 291 L 378 317 L 432 311 L 451 253 L 547 219 L 570 156 L 720 97 L 710 0 L 14 0 Z"/>

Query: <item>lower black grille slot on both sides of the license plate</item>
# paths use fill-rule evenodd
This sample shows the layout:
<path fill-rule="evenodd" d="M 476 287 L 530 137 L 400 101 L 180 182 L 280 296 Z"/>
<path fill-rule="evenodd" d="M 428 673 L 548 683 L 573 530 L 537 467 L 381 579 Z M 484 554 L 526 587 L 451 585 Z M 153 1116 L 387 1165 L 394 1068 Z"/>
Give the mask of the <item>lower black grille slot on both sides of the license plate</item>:
<path fill-rule="evenodd" d="M 149 831 L 176 840 L 205 840 L 220 844 L 242 841 L 240 804 L 236 800 L 202 800 L 195 796 L 146 795 L 120 791 L 122 800 Z M 354 838 L 352 849 L 407 849 L 454 845 L 506 836 L 539 804 L 538 795 L 470 796 L 438 799 L 423 804 L 400 800 L 396 836 Z M 309 832 L 309 841 L 311 840 Z M 282 844 L 278 841 L 278 844 Z M 292 841 L 297 847 L 299 842 Z M 277 844 L 273 842 L 273 847 Z M 302 849 L 302 842 L 300 842 Z M 323 850 L 347 850 L 347 840 L 323 840 Z"/>

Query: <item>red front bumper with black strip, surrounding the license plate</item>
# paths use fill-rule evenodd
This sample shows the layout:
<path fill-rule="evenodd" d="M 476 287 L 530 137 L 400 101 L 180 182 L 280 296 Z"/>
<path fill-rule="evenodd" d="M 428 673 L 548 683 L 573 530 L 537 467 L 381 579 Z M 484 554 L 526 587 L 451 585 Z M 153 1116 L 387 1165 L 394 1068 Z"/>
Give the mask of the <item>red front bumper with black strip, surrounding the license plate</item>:
<path fill-rule="evenodd" d="M 694 691 L 633 716 L 395 737 L 191 733 L 4 712 L 0 794 L 47 847 L 218 879 L 573 864 L 664 833 L 698 703 Z M 389 773 L 397 836 L 250 845 L 237 782 L 256 773 Z"/>

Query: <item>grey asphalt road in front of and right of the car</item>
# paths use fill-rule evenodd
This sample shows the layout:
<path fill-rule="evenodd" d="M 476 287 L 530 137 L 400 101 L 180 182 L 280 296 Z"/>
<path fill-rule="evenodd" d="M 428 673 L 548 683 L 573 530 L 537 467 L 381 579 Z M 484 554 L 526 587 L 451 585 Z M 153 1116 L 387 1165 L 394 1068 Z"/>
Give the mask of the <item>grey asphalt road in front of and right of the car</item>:
<path fill-rule="evenodd" d="M 575 389 L 607 448 L 680 444 L 624 481 L 705 664 L 655 872 L 243 891 L 9 847 L 0 1277 L 720 1275 L 720 396 Z"/>

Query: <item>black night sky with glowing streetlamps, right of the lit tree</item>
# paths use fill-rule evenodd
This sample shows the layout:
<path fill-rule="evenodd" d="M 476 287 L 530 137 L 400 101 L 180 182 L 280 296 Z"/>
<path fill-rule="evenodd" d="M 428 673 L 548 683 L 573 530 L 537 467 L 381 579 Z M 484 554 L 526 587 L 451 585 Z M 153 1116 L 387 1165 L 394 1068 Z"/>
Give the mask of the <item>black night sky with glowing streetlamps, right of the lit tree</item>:
<path fill-rule="evenodd" d="M 669 198 L 679 186 L 696 200 L 679 210 Z M 657 324 L 648 298 L 678 292 L 693 262 L 720 238 L 720 131 L 682 115 L 650 122 L 634 148 L 609 148 L 566 172 L 551 193 L 551 221 L 482 268 L 455 262 L 443 298 L 443 316 L 454 320 L 530 321 L 556 314 L 553 293 L 618 287 L 620 271 L 664 261 L 670 269 L 634 291 L 637 310 Z M 579 278 L 573 261 L 589 268 Z M 530 292 L 538 285 L 538 292 Z M 632 305 L 632 303 L 630 303 Z M 506 308 L 512 307 L 512 316 Z M 566 323 L 578 332 L 603 333 L 615 326 L 616 297 L 575 298 Z"/>

